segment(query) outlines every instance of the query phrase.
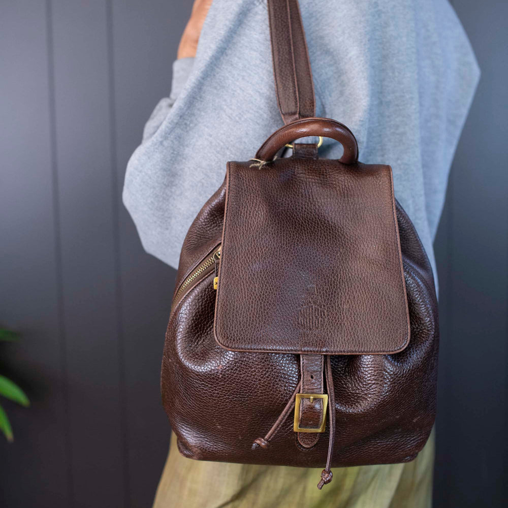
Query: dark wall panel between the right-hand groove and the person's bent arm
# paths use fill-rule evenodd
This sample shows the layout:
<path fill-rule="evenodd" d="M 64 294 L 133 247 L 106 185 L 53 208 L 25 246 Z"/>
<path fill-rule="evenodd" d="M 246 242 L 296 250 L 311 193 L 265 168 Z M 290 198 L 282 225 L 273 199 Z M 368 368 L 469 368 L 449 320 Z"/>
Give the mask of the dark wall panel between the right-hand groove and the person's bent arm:
<path fill-rule="evenodd" d="M 192 2 L 114 0 L 113 61 L 118 196 L 143 124 L 167 97 L 171 67 Z M 123 333 L 131 506 L 152 502 L 169 447 L 159 378 L 175 272 L 148 256 L 120 203 Z"/>

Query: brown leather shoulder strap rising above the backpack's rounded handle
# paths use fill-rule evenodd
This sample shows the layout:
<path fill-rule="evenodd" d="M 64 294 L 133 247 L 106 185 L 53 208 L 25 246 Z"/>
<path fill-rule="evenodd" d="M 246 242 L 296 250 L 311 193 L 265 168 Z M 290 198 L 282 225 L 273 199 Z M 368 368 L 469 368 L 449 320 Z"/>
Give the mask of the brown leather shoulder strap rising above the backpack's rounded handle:
<path fill-rule="evenodd" d="M 314 84 L 298 0 L 268 0 L 277 103 L 284 123 L 315 116 Z"/>

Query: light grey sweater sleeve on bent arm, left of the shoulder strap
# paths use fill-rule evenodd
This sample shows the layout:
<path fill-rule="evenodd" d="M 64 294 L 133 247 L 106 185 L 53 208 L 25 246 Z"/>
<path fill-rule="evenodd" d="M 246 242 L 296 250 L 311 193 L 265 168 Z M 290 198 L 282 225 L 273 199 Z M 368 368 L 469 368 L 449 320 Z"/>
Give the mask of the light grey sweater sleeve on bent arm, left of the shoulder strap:
<path fill-rule="evenodd" d="M 173 88 L 148 120 L 125 172 L 122 200 L 143 248 L 178 267 L 194 218 L 280 126 L 266 4 L 213 2 L 196 57 L 174 63 Z"/>

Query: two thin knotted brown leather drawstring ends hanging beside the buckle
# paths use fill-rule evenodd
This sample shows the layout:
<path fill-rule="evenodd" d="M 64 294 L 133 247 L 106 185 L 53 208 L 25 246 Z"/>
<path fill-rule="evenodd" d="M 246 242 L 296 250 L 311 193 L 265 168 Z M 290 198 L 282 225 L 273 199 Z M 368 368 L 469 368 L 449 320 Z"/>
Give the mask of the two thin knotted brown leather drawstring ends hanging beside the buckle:
<path fill-rule="evenodd" d="M 268 448 L 269 441 L 273 438 L 276 432 L 279 430 L 280 426 L 284 423 L 285 419 L 288 418 L 288 415 L 291 412 L 295 405 L 295 397 L 296 394 L 300 392 L 301 382 L 298 383 L 298 386 L 295 388 L 293 395 L 289 399 L 288 403 L 285 405 L 284 409 L 282 409 L 281 414 L 272 425 L 271 429 L 268 431 L 265 437 L 258 437 L 252 443 L 252 450 L 256 450 L 259 447 L 266 450 Z M 328 408 L 329 408 L 329 420 L 330 420 L 330 438 L 328 441 L 328 457 L 326 459 L 326 467 L 321 471 L 321 480 L 317 484 L 318 489 L 322 489 L 323 485 L 326 485 L 332 481 L 333 473 L 330 469 L 330 465 L 333 457 L 333 441 L 335 439 L 335 390 L 333 387 L 333 377 L 332 377 L 332 364 L 330 362 L 330 356 L 326 356 L 326 388 L 328 391 Z"/>

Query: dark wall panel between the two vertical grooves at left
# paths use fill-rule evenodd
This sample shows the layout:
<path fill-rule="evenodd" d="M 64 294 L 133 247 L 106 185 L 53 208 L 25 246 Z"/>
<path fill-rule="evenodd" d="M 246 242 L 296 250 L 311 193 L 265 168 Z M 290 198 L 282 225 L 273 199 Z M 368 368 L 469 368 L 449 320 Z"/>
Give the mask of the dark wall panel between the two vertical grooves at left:
<path fill-rule="evenodd" d="M 124 506 L 125 421 L 105 2 L 54 0 L 62 284 L 73 506 Z"/>

